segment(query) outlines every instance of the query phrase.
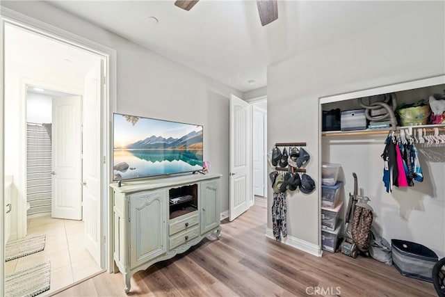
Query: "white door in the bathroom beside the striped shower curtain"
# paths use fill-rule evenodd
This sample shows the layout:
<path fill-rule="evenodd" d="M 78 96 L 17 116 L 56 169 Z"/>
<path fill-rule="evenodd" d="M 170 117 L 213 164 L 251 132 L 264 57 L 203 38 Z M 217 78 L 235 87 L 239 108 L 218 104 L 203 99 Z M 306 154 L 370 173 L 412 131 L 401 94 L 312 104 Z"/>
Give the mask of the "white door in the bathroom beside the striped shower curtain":
<path fill-rule="evenodd" d="M 54 98 L 52 118 L 51 215 L 81 220 L 81 97 Z"/>

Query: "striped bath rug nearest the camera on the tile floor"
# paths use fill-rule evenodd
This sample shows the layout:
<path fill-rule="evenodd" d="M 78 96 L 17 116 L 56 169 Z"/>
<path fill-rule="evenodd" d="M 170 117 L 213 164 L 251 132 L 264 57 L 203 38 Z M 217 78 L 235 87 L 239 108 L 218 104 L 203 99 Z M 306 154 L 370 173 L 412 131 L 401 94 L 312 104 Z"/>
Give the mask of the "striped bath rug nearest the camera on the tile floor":
<path fill-rule="evenodd" d="M 49 281 L 51 279 L 51 262 L 45 262 L 24 271 L 6 275 L 5 278 L 5 296 L 17 297 L 36 296 L 49 290 Z"/>

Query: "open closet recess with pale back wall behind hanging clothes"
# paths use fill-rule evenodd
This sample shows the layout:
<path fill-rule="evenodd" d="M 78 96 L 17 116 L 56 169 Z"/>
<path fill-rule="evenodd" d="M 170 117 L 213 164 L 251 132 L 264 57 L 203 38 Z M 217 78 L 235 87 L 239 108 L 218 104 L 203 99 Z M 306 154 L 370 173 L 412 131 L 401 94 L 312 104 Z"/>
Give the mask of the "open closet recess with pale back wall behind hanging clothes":
<path fill-rule="evenodd" d="M 421 99 L 425 105 L 429 104 L 430 97 L 445 97 L 445 77 L 433 77 L 398 83 L 370 90 L 362 90 L 348 94 L 320 98 L 320 117 L 334 109 L 343 111 L 359 111 L 360 98 L 378 97 L 385 94 L 395 95 L 397 104 L 413 104 L 419 106 Z M 443 100 L 445 102 L 445 99 Z M 400 107 L 400 106 L 399 106 Z M 397 111 L 396 111 L 397 113 Z M 346 114 L 346 113 L 344 113 Z M 355 115 L 359 115 L 358 112 Z M 427 114 L 428 117 L 431 113 Z M 360 115 L 361 117 L 362 115 Z M 420 118 L 420 117 L 419 117 Z M 423 116 L 422 116 L 423 118 Z M 358 119 L 358 118 L 357 118 Z M 340 120 L 340 119 L 339 119 Z M 430 119 L 428 119 L 429 121 Z M 321 121 L 322 122 L 322 121 Z M 431 124 L 430 122 L 415 122 L 403 127 L 401 122 L 397 127 L 370 127 L 370 121 L 361 118 L 357 129 L 340 129 L 336 131 L 321 131 L 321 163 L 337 166 L 339 164 L 338 181 L 343 182 L 335 191 L 339 191 L 339 202 L 343 207 L 337 209 L 339 232 L 338 238 L 344 235 L 345 216 L 350 200 L 350 193 L 354 193 L 354 177 L 357 175 L 358 195 L 369 198 L 369 205 L 373 208 L 372 226 L 380 236 L 391 244 L 391 239 L 402 239 L 420 243 L 433 250 L 439 259 L 445 255 L 445 234 L 442 226 L 445 225 L 445 188 L 443 177 L 445 173 L 445 122 Z M 341 122 L 343 124 L 343 122 Z M 357 122 L 356 122 L 357 123 Z M 373 123 L 377 125 L 376 123 Z M 417 125 L 416 125 L 417 124 Z M 381 125 L 387 125 L 381 122 Z M 343 130 L 343 131 L 341 131 Z M 419 137 L 420 134 L 420 137 Z M 418 163 L 423 178 L 405 179 L 407 184 L 393 186 L 387 189 L 385 180 L 385 160 L 382 154 L 387 139 L 394 137 L 401 150 L 401 160 L 405 162 L 405 152 L 411 152 L 409 145 L 414 145 L 418 152 Z M 423 138 L 423 141 L 421 141 Z M 444 140 L 444 142 L 442 142 Z M 392 142 L 392 141 L 391 141 Z M 410 166 L 410 162 L 406 162 Z M 414 163 L 413 163 L 414 164 Z M 414 166 L 414 165 L 413 165 Z M 407 170 L 410 172 L 409 170 Z M 401 170 L 406 175 L 405 168 Z M 323 185 L 325 186 L 325 185 Z M 323 187 L 322 186 L 322 187 Z M 325 186 L 326 187 L 326 186 Z M 324 194 L 323 194 L 324 195 Z M 320 205 L 323 207 L 323 195 Z M 340 205 L 340 204 L 338 204 Z M 335 229 L 335 228 L 334 228 Z M 321 218 L 321 232 L 323 218 Z M 332 232 L 331 232 L 332 233 Z M 320 237 L 321 246 L 323 238 Z M 340 242 L 339 242 L 340 244 Z M 339 251 L 337 247 L 325 249 L 330 252 Z"/>

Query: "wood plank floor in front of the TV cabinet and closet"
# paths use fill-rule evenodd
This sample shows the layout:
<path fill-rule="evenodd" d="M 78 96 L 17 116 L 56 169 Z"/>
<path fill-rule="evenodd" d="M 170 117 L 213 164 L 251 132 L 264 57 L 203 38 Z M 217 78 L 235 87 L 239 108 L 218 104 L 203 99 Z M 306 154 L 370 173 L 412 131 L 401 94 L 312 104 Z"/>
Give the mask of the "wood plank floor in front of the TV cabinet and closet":
<path fill-rule="evenodd" d="M 133 275 L 129 296 L 436 296 L 432 284 L 374 259 L 314 257 L 267 239 L 267 211 L 257 198 L 234 222 L 223 221 L 220 240 L 204 239 Z M 56 296 L 126 295 L 120 273 L 102 273 Z"/>

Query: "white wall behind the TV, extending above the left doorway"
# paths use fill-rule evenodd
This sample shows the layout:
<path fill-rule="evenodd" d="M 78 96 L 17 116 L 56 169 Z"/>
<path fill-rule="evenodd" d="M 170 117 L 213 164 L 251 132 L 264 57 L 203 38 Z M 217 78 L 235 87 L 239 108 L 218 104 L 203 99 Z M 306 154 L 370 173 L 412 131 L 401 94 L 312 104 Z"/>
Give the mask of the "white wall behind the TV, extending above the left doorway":
<path fill-rule="evenodd" d="M 229 94 L 237 90 L 41 1 L 2 6 L 94 40 L 118 52 L 117 112 L 204 126 L 204 159 L 223 174 L 221 210 L 229 208 Z"/>

